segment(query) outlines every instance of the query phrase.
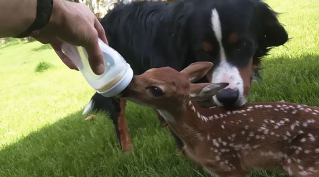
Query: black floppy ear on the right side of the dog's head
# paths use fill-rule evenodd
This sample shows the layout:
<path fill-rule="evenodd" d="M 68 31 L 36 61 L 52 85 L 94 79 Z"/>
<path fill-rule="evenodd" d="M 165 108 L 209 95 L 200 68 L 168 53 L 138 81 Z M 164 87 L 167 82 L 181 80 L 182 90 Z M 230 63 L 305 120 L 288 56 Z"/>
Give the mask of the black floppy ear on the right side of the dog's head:
<path fill-rule="evenodd" d="M 266 3 L 256 0 L 256 10 L 260 22 L 260 40 L 268 46 L 279 46 L 288 41 L 288 34 L 285 28 L 278 22 L 277 13 Z"/>

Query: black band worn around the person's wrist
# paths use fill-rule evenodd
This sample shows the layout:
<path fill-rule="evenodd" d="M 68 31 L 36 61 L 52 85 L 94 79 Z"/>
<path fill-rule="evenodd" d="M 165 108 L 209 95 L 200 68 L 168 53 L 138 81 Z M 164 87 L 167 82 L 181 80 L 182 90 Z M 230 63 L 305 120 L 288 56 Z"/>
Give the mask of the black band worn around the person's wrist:
<path fill-rule="evenodd" d="M 31 26 L 16 38 L 25 38 L 32 35 L 35 31 L 42 29 L 50 20 L 53 8 L 53 0 L 38 0 L 37 15 Z"/>

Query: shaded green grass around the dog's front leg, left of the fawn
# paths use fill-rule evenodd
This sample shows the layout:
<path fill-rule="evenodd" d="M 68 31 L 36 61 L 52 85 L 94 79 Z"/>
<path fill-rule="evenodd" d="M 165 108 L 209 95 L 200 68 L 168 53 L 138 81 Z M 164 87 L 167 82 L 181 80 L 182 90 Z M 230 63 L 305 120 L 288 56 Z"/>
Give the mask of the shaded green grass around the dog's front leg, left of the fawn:
<path fill-rule="evenodd" d="M 152 110 L 133 107 L 128 111 L 133 152 L 122 153 L 109 118 L 98 113 L 85 121 L 78 111 L 3 147 L 0 176 L 165 177 L 178 176 L 181 168 L 189 169 L 184 175 L 197 174 L 176 155 L 168 130 L 160 128 Z M 140 115 L 148 116 L 141 120 Z"/>

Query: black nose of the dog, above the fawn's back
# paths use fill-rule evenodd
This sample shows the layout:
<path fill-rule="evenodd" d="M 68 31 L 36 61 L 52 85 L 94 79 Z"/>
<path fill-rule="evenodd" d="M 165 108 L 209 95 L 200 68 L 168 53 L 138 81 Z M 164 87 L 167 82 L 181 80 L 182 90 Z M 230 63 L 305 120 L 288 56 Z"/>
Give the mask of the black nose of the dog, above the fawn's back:
<path fill-rule="evenodd" d="M 221 89 L 216 94 L 216 99 L 223 104 L 223 106 L 234 106 L 239 96 L 237 89 L 226 88 Z"/>

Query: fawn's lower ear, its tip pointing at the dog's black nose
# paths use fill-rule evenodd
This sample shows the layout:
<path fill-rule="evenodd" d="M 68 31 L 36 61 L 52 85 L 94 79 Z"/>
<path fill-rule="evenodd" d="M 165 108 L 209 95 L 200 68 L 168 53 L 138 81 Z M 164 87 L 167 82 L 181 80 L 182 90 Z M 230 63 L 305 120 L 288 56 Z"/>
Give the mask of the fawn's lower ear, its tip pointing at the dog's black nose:
<path fill-rule="evenodd" d="M 226 86 L 228 86 L 228 83 L 191 84 L 190 98 L 196 101 L 205 101 Z"/>

